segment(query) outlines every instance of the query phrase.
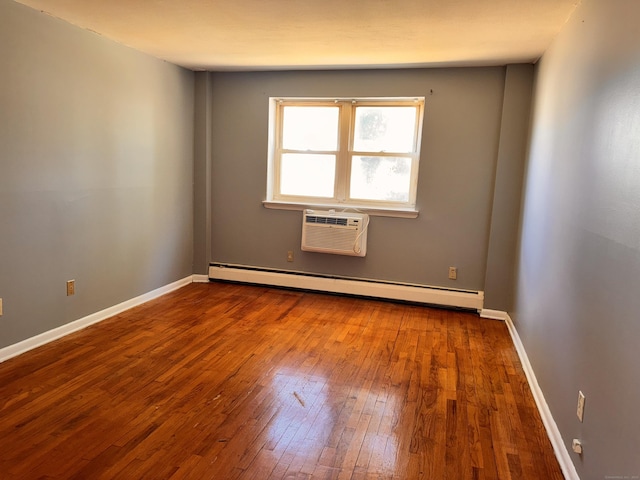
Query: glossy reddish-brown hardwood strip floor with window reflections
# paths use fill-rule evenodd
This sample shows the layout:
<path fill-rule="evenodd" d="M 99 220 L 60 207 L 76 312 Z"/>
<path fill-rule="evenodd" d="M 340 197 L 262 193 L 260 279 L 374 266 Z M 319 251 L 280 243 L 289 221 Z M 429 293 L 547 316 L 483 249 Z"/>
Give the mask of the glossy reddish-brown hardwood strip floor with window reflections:
<path fill-rule="evenodd" d="M 561 479 L 506 325 L 192 284 L 0 364 L 1 479 Z"/>

